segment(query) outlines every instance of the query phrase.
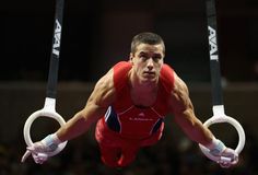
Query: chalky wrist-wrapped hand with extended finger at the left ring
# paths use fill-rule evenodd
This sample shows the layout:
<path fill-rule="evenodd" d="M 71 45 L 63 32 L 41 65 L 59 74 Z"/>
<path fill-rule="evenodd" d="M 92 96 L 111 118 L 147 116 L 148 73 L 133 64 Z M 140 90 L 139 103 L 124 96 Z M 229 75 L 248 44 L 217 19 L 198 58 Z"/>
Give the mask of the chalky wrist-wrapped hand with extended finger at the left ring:
<path fill-rule="evenodd" d="M 25 162 L 25 160 L 32 154 L 35 163 L 43 164 L 48 159 L 47 153 L 55 151 L 59 143 L 61 143 L 61 141 L 58 139 L 56 133 L 49 135 L 42 141 L 27 147 L 27 151 L 24 153 L 21 162 Z"/>

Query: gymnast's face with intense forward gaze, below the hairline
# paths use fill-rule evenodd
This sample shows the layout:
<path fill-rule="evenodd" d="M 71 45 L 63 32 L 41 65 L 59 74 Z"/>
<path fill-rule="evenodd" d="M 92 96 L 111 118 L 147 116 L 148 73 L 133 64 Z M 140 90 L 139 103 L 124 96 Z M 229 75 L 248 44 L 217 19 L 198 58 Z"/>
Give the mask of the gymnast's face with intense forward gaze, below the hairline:
<path fill-rule="evenodd" d="M 164 62 L 163 45 L 140 44 L 130 54 L 130 61 L 140 83 L 157 82 Z"/>

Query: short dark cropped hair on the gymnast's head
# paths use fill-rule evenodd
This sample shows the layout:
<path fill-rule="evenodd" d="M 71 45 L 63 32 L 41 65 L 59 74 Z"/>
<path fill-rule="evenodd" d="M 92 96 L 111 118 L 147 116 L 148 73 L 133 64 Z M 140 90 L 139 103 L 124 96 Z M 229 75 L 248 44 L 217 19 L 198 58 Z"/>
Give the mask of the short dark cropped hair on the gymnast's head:
<path fill-rule="evenodd" d="M 134 54 L 137 51 L 137 46 L 140 44 L 149 44 L 149 45 L 163 45 L 163 54 L 165 54 L 165 44 L 162 37 L 155 33 L 143 32 L 136 35 L 131 42 L 131 52 Z"/>

